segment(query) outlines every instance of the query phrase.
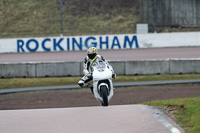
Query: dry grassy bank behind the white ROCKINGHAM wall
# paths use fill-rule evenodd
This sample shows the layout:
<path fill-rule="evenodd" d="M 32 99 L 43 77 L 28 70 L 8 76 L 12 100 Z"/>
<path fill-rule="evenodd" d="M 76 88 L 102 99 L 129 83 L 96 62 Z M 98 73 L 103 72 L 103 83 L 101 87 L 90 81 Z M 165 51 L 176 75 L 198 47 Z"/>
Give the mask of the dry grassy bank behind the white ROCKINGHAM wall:
<path fill-rule="evenodd" d="M 0 38 L 131 34 L 139 0 L 0 0 Z"/>

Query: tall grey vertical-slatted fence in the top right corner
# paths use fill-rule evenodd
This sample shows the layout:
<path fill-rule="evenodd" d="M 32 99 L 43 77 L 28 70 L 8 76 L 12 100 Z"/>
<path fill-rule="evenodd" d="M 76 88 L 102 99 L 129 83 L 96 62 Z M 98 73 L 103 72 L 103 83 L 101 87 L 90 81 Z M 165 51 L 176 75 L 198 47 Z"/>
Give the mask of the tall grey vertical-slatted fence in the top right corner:
<path fill-rule="evenodd" d="M 140 0 L 142 23 L 158 26 L 197 26 L 199 0 Z"/>

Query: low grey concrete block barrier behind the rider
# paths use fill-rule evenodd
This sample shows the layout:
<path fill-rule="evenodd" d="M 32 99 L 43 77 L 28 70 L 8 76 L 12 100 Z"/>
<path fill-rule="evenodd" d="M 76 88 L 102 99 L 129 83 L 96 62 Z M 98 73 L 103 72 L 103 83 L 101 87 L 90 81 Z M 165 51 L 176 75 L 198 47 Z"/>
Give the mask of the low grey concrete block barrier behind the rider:
<path fill-rule="evenodd" d="M 117 75 L 199 74 L 200 59 L 109 61 Z M 82 76 L 82 62 L 1 63 L 1 78 Z"/>

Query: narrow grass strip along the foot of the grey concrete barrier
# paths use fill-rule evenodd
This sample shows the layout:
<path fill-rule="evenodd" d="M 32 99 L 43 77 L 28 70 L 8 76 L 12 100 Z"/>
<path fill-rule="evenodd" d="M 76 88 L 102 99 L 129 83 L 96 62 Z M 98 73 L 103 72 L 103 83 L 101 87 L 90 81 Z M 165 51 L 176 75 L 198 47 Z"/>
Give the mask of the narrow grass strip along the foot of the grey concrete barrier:
<path fill-rule="evenodd" d="M 0 79 L 0 89 L 77 84 L 81 77 Z M 114 82 L 200 79 L 200 74 L 117 76 Z"/>

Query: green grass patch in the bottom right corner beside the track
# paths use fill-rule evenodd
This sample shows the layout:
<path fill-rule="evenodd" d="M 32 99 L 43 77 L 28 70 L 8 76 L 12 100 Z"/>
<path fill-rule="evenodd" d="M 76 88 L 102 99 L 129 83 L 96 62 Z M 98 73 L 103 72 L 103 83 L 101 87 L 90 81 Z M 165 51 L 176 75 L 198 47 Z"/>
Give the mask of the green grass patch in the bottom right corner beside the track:
<path fill-rule="evenodd" d="M 200 131 L 200 97 L 153 101 L 145 103 L 165 110 L 173 110 L 177 122 L 186 133 L 199 133 Z"/>

